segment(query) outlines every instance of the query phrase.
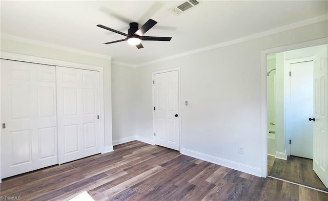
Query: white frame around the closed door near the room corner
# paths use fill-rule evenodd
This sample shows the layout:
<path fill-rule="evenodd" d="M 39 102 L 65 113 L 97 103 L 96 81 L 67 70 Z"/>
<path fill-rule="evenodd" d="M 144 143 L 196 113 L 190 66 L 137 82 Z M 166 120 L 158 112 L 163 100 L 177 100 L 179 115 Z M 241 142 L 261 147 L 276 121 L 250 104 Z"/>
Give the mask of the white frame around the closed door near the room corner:
<path fill-rule="evenodd" d="M 179 105 L 179 152 L 181 152 L 181 148 L 182 148 L 182 137 L 181 137 L 181 74 L 180 74 L 180 67 L 176 67 L 176 68 L 172 68 L 172 69 L 166 69 L 166 70 L 161 70 L 161 71 L 155 71 L 152 73 L 152 103 L 153 103 L 153 107 L 155 105 L 155 100 L 154 100 L 154 84 L 153 84 L 153 80 L 154 80 L 154 76 L 156 74 L 160 74 L 160 73 L 168 73 L 168 72 L 172 72 L 172 71 L 178 71 L 178 105 Z M 152 109 L 153 110 L 153 109 Z M 153 133 L 155 133 L 155 111 L 153 110 Z M 153 145 L 155 145 L 155 135 L 153 135 Z"/>

